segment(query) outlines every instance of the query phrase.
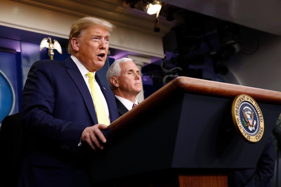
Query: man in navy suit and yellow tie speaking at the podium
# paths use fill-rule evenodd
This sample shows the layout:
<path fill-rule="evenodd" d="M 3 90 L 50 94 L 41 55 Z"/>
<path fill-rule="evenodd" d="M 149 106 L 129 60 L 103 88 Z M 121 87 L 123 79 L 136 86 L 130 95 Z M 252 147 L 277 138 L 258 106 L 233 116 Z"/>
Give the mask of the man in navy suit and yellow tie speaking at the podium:
<path fill-rule="evenodd" d="M 34 146 L 23 162 L 19 186 L 92 186 L 92 150 L 103 149 L 101 130 L 118 117 L 113 93 L 95 75 L 105 63 L 113 27 L 81 18 L 69 34 L 71 57 L 37 61 L 30 68 L 22 119 Z"/>

